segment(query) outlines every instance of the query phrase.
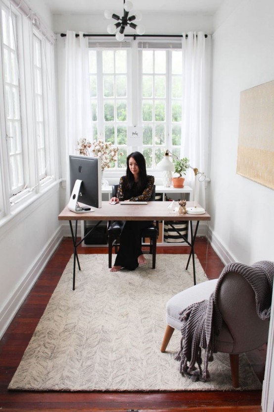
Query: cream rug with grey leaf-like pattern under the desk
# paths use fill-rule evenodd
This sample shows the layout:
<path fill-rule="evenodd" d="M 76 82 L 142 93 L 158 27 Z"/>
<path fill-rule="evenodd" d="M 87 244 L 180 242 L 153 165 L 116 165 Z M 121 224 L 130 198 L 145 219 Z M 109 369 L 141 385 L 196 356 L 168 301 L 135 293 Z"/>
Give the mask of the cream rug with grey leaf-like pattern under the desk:
<path fill-rule="evenodd" d="M 9 389 L 26 391 L 224 391 L 233 390 L 227 354 L 209 364 L 212 380 L 192 382 L 174 359 L 181 333 L 167 353 L 160 347 L 165 306 L 193 286 L 187 255 L 159 254 L 156 269 L 111 273 L 107 255 L 79 255 L 82 270 L 72 291 L 71 257 Z M 113 259 L 114 260 L 114 259 Z M 197 283 L 207 281 L 196 258 Z M 261 389 L 245 356 L 239 390 Z"/>

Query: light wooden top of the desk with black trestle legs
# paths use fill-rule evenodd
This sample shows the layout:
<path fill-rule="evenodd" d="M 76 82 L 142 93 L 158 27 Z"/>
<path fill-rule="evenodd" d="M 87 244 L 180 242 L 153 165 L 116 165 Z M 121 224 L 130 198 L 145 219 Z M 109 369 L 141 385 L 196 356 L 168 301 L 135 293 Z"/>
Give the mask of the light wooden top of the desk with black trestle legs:
<path fill-rule="evenodd" d="M 74 213 L 68 207 L 59 214 L 59 220 L 166 220 L 166 221 L 201 221 L 210 220 L 210 215 L 205 212 L 203 215 L 179 215 L 168 209 L 171 202 L 148 202 L 147 205 L 110 205 L 108 201 L 102 202 L 100 209 L 94 212 Z M 175 202 L 175 207 L 178 203 Z M 186 207 L 193 207 L 194 202 L 187 202 Z M 199 205 L 197 205 L 199 206 Z"/>

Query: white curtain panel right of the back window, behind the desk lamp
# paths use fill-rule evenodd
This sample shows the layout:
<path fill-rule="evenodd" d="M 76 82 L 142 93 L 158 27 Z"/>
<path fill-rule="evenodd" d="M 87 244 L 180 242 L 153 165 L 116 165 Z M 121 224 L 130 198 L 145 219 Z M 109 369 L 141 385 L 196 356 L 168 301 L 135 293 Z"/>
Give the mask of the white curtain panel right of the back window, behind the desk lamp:
<path fill-rule="evenodd" d="M 187 35 L 187 38 L 186 38 Z M 183 126 L 181 158 L 208 176 L 210 41 L 202 32 L 183 33 Z M 207 42 L 207 44 L 206 44 Z M 194 172 L 187 181 L 194 188 Z M 196 201 L 205 205 L 205 183 L 197 181 Z"/>

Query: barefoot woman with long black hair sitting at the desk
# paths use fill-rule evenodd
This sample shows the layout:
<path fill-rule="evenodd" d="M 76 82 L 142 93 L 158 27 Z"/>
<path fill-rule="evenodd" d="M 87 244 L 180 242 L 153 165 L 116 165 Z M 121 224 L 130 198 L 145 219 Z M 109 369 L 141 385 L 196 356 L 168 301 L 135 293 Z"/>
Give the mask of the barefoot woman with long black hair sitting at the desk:
<path fill-rule="evenodd" d="M 145 159 L 140 152 L 131 153 L 127 157 L 127 174 L 120 178 L 117 197 L 110 203 L 124 201 L 148 201 L 154 185 L 154 176 L 146 174 Z M 151 225 L 148 221 L 125 221 L 120 235 L 120 247 L 111 272 L 122 267 L 135 270 L 146 263 L 141 250 L 141 230 Z"/>

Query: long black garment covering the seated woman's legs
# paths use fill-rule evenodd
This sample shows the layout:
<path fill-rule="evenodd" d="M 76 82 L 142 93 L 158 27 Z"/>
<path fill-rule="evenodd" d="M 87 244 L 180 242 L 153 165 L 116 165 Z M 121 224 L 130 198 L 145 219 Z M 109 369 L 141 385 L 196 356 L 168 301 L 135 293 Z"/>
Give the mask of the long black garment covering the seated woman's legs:
<path fill-rule="evenodd" d="M 150 226 L 152 221 L 125 221 L 120 235 L 120 247 L 114 266 L 122 266 L 128 270 L 135 270 L 138 256 L 142 254 L 141 232 Z"/>

